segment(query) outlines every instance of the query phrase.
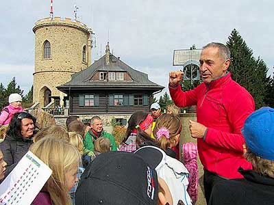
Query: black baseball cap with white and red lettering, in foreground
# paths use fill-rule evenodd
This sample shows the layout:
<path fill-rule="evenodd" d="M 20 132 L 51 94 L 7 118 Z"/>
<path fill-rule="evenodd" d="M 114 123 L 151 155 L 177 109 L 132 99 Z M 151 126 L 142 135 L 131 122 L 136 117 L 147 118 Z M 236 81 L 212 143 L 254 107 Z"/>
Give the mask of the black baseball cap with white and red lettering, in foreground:
<path fill-rule="evenodd" d="M 99 154 L 82 174 L 75 202 L 76 205 L 157 204 L 157 173 L 134 153 Z"/>

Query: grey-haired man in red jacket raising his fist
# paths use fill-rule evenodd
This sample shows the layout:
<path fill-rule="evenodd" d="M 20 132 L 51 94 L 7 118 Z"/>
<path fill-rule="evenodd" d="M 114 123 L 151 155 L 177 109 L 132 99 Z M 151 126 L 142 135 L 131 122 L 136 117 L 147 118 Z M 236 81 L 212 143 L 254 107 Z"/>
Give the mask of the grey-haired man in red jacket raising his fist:
<path fill-rule="evenodd" d="M 242 178 L 238 167 L 251 169 L 242 156 L 245 143 L 240 129 L 255 109 L 252 96 L 232 80 L 227 68 L 230 52 L 224 44 L 203 47 L 200 74 L 203 83 L 183 92 L 183 72 L 169 73 L 169 92 L 178 107 L 197 105 L 197 122 L 190 120 L 191 136 L 197 138 L 199 158 L 204 167 L 203 185 L 208 202 L 219 180 Z"/>

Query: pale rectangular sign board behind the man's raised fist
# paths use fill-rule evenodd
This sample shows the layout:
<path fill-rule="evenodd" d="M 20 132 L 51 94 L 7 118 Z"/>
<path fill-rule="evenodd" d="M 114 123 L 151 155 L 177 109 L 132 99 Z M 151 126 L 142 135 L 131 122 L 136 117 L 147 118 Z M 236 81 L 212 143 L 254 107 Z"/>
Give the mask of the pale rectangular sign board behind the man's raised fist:
<path fill-rule="evenodd" d="M 184 66 L 187 61 L 198 61 L 202 49 L 180 49 L 173 51 L 173 66 Z"/>

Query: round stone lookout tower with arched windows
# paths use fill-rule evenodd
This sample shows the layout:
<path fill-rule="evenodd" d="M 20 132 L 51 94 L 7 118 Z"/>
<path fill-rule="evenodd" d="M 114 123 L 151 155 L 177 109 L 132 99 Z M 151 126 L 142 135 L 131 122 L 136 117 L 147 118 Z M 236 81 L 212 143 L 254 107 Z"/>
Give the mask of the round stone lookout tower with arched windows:
<path fill-rule="evenodd" d="M 66 95 L 56 86 L 71 81 L 71 74 L 90 66 L 92 30 L 71 18 L 42 18 L 35 33 L 34 102 L 45 107 L 66 105 Z"/>

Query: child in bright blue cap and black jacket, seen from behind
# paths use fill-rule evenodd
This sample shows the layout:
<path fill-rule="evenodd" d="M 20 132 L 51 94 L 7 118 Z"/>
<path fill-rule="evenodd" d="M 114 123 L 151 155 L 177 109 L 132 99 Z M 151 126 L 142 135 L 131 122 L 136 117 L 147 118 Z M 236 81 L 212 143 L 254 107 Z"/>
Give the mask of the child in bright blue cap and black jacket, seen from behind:
<path fill-rule="evenodd" d="M 251 113 L 242 128 L 247 161 L 253 170 L 239 167 L 243 179 L 225 180 L 216 184 L 211 205 L 274 204 L 274 109 L 262 107 Z"/>

